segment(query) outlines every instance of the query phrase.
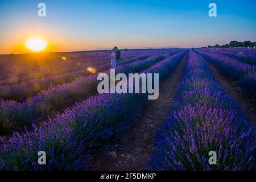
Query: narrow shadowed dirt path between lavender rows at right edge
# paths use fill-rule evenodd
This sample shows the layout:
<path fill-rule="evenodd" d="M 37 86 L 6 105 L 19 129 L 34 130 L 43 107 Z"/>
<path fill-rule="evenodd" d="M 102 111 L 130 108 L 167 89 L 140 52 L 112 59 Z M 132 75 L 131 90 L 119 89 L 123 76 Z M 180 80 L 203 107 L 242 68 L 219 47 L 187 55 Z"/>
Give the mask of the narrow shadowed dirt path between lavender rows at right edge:
<path fill-rule="evenodd" d="M 200 56 L 200 55 L 199 55 Z M 229 96 L 235 98 L 238 103 L 241 105 L 243 111 L 245 111 L 246 118 L 252 122 L 252 125 L 255 125 L 256 122 L 256 106 L 255 101 L 252 98 L 246 98 L 242 95 L 241 90 L 236 86 L 236 81 L 230 80 L 228 77 L 222 75 L 218 68 L 214 64 L 210 64 L 203 56 L 201 58 L 207 63 L 212 70 L 212 73 L 216 80 L 220 82 L 221 86 L 229 94 Z"/>

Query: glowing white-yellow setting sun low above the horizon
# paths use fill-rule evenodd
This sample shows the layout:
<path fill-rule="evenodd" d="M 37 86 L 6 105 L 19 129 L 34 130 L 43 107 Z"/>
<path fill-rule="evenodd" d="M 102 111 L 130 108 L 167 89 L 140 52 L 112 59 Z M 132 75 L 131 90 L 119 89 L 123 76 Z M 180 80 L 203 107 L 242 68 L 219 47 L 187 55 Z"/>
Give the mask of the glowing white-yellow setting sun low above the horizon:
<path fill-rule="evenodd" d="M 31 51 L 39 52 L 43 51 L 47 47 L 46 40 L 42 38 L 30 38 L 26 41 L 26 47 Z"/>

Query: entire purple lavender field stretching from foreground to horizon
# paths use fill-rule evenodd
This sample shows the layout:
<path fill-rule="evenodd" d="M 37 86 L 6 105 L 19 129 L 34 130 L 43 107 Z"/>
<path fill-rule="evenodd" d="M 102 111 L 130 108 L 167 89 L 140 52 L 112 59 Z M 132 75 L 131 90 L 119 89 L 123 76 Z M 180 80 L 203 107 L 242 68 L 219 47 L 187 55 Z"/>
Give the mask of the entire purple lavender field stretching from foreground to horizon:
<path fill-rule="evenodd" d="M 0 55 L 0 68 L 0 170 L 256 169 L 254 48 L 122 51 L 115 73 L 158 73 L 158 100 L 98 93 L 104 51 Z"/>

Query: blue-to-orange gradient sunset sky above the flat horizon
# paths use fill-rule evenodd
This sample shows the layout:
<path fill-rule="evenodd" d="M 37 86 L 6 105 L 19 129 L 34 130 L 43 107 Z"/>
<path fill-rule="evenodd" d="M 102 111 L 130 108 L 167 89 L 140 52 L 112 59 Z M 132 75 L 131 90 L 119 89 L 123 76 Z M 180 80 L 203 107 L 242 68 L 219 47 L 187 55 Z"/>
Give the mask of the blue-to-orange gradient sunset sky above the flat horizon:
<path fill-rule="evenodd" d="M 38 3 L 47 16 L 38 16 Z M 208 5 L 217 4 L 217 17 Z M 48 51 L 141 47 L 201 47 L 256 41 L 256 1 L 0 0 L 0 53 L 25 53 L 31 36 Z"/>

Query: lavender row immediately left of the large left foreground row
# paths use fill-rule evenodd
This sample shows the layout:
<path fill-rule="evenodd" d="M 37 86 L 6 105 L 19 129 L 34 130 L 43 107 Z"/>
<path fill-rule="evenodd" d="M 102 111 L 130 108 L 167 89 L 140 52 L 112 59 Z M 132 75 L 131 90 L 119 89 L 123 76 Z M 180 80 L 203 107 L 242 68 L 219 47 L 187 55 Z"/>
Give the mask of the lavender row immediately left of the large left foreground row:
<path fill-rule="evenodd" d="M 179 51 L 177 51 L 179 52 Z M 151 65 L 173 55 L 158 55 L 149 57 L 146 60 L 136 61 L 122 65 L 116 69 L 120 73 L 141 72 Z M 110 71 L 105 73 L 110 74 Z M 42 121 L 63 111 L 76 102 L 83 101 L 97 93 L 97 75 L 80 77 L 76 81 L 56 86 L 55 88 L 43 90 L 31 100 L 19 103 L 15 101 L 0 101 L 0 133 L 8 134 L 12 131 L 23 129 L 24 126 L 31 126 L 32 123 Z"/>

